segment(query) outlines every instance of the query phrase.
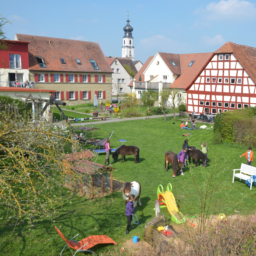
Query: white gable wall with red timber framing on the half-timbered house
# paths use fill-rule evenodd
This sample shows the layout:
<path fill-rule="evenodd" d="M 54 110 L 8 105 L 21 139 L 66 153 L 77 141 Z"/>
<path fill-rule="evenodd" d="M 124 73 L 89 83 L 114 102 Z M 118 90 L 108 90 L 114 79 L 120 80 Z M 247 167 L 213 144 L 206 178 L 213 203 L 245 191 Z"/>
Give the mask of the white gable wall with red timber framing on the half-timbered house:
<path fill-rule="evenodd" d="M 252 63 L 253 65 L 253 63 Z M 187 111 L 220 113 L 256 105 L 253 79 L 233 53 L 217 53 L 185 89 Z"/>

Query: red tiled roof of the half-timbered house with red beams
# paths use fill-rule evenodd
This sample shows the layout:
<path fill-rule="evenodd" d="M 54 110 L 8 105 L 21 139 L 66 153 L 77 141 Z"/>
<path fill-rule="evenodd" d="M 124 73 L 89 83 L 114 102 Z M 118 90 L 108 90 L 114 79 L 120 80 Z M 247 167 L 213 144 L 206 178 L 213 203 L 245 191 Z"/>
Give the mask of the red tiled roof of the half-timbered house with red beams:
<path fill-rule="evenodd" d="M 256 48 L 227 42 L 215 53 L 233 53 L 256 84 Z"/>

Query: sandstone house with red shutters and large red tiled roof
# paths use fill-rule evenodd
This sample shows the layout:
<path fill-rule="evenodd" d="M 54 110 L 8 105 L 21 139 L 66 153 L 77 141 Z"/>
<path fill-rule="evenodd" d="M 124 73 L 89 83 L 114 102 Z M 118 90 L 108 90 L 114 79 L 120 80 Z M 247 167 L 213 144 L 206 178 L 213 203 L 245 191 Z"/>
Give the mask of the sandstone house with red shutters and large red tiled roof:
<path fill-rule="evenodd" d="M 30 42 L 29 80 L 36 89 L 56 90 L 56 100 L 76 105 L 112 101 L 112 69 L 98 43 L 16 34 Z"/>

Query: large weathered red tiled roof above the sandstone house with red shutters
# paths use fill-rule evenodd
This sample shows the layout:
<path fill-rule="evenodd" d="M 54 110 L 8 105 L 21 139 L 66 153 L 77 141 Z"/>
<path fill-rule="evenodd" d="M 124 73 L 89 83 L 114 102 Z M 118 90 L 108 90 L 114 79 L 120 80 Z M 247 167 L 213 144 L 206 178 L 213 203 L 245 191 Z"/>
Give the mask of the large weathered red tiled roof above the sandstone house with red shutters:
<path fill-rule="evenodd" d="M 22 34 L 16 34 L 16 38 L 19 41 L 30 42 L 30 70 L 112 73 L 98 43 Z M 45 58 L 46 68 L 39 67 L 36 56 Z M 62 64 L 59 58 L 64 58 L 66 64 Z M 80 59 L 82 65 L 78 65 L 75 59 Z M 89 59 L 95 60 L 98 70 L 93 68 Z"/>

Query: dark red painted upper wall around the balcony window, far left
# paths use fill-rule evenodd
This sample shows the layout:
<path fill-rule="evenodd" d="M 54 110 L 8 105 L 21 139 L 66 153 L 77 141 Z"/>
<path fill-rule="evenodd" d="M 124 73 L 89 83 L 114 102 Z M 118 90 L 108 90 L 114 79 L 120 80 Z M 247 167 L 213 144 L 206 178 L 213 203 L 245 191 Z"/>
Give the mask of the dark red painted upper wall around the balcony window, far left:
<path fill-rule="evenodd" d="M 29 69 L 29 49 L 28 49 L 28 42 L 20 42 L 20 41 L 10 41 L 10 40 L 3 40 L 7 43 L 8 49 L 5 51 L 0 51 L 0 68 L 9 69 L 9 62 L 10 62 L 10 54 L 20 54 L 20 60 L 23 64 L 23 69 Z M 5 65 L 3 64 L 3 61 Z"/>

